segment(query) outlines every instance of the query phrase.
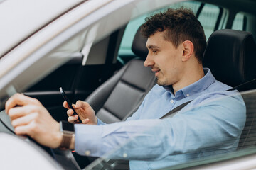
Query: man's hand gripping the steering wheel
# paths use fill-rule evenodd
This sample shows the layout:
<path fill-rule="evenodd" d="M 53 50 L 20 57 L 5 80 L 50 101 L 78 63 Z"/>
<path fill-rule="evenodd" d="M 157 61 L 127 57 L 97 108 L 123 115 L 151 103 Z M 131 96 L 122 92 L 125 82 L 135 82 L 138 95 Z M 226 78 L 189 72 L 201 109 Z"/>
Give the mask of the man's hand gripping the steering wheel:
<path fill-rule="evenodd" d="M 59 123 L 38 100 L 23 94 L 14 94 L 6 101 L 5 107 L 17 135 L 28 135 L 47 147 L 60 146 L 62 135 Z"/>

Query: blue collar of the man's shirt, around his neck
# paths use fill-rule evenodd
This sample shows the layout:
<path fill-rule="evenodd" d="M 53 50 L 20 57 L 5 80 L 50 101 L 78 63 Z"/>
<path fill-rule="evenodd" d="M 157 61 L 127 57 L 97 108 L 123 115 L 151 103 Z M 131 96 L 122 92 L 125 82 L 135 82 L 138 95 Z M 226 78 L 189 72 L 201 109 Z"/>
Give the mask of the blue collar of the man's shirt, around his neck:
<path fill-rule="evenodd" d="M 208 86 L 215 82 L 215 77 L 213 77 L 210 69 L 203 68 L 203 72 L 205 73 L 204 77 L 194 82 L 193 84 L 190 84 L 183 89 L 176 91 L 175 98 L 185 98 L 188 96 L 192 96 L 193 94 L 197 94 L 198 92 L 205 90 L 206 88 L 208 88 Z M 173 94 L 172 86 L 164 86 L 164 89 L 166 89 L 166 91 L 170 91 L 171 94 Z"/>

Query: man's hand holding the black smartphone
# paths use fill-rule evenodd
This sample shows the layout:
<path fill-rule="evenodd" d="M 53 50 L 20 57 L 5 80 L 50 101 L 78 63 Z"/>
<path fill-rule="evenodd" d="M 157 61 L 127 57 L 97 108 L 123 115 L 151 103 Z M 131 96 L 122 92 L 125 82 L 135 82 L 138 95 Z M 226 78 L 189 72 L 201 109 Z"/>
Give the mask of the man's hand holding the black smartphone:
<path fill-rule="evenodd" d="M 95 111 L 92 109 L 89 103 L 84 101 L 77 101 L 73 108 L 78 115 L 73 115 L 74 111 L 68 107 L 67 101 L 63 103 L 64 108 L 68 108 L 68 122 L 78 123 L 78 115 L 84 124 L 97 125 L 97 118 L 95 116 Z"/>

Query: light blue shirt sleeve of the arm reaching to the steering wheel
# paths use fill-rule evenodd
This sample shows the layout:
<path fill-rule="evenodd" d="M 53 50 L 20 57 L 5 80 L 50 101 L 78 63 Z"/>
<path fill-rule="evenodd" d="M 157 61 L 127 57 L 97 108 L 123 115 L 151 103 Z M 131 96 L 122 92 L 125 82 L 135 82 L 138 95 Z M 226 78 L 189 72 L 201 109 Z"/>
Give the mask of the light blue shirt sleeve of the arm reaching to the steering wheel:
<path fill-rule="evenodd" d="M 206 101 L 164 120 L 76 124 L 75 150 L 95 157 L 156 160 L 198 150 L 236 148 L 246 117 L 242 99 Z"/>

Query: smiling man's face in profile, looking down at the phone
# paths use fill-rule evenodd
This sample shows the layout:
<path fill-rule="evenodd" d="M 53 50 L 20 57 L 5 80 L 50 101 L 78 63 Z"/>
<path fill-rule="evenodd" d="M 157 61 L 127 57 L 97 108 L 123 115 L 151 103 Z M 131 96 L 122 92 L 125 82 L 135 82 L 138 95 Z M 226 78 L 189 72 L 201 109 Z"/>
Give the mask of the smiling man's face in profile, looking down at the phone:
<path fill-rule="evenodd" d="M 176 84 L 183 76 L 182 45 L 176 48 L 171 42 L 164 40 L 164 32 L 156 32 L 148 38 L 146 47 L 149 49 L 149 54 L 144 66 L 151 67 L 152 72 L 155 72 L 157 84 L 159 86 Z"/>

